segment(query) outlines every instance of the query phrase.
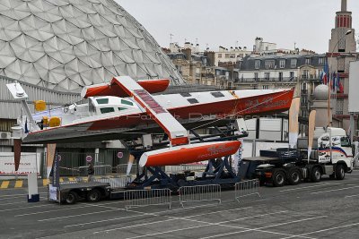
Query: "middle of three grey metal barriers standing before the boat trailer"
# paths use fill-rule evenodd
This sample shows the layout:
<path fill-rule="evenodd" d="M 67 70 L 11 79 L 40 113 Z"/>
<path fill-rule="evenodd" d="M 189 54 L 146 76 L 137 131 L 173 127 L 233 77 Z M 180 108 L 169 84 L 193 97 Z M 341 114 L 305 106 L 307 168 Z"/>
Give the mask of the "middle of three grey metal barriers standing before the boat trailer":
<path fill-rule="evenodd" d="M 182 208 L 187 202 L 218 201 L 221 203 L 221 185 L 219 184 L 183 186 L 178 192 Z"/>

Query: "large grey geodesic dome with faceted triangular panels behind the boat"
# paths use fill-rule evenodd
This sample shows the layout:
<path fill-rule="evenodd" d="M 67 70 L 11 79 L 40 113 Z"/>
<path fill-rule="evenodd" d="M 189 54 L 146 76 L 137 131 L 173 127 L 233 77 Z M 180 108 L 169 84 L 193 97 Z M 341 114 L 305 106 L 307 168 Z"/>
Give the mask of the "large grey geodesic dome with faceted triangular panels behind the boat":
<path fill-rule="evenodd" d="M 184 83 L 153 37 L 112 0 L 1 0 L 0 75 L 69 91 L 118 75 Z"/>

